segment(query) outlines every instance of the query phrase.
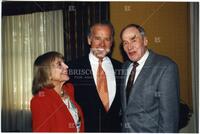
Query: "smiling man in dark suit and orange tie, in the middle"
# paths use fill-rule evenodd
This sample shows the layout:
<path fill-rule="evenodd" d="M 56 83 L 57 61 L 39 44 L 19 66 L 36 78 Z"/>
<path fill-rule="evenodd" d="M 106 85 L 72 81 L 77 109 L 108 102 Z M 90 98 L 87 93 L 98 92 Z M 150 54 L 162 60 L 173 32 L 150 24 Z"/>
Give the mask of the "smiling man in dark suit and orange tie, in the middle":
<path fill-rule="evenodd" d="M 75 99 L 83 110 L 86 132 L 121 131 L 120 77 L 116 76 L 121 63 L 106 56 L 113 36 L 112 24 L 93 24 L 88 34 L 89 55 L 68 63 Z"/>

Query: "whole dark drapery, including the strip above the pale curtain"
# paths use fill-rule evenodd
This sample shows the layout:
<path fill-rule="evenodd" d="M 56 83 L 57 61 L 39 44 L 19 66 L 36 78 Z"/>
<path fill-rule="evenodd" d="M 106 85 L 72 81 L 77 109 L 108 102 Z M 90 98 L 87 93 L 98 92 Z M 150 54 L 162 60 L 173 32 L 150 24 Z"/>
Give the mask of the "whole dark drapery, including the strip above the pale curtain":
<path fill-rule="evenodd" d="M 87 30 L 91 23 L 109 20 L 109 2 L 2 2 L 2 16 L 63 10 L 65 60 L 89 52 Z"/>

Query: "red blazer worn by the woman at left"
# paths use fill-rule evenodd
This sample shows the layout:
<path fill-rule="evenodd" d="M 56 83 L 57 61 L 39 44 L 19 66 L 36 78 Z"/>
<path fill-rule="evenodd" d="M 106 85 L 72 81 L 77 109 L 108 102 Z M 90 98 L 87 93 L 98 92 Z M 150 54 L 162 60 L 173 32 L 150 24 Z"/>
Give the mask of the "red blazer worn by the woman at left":
<path fill-rule="evenodd" d="M 80 132 L 84 132 L 84 119 L 81 108 L 74 100 L 74 87 L 65 84 L 68 93 L 81 118 Z M 67 106 L 55 90 L 43 88 L 31 100 L 33 132 L 76 132 L 76 125 Z"/>

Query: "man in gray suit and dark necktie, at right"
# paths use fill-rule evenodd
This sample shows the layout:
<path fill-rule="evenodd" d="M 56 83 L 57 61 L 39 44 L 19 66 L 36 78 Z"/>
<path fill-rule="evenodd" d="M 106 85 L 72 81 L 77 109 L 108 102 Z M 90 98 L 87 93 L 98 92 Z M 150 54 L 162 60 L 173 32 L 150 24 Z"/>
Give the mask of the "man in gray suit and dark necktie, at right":
<path fill-rule="evenodd" d="M 121 85 L 123 132 L 178 132 L 179 74 L 175 62 L 147 49 L 144 29 L 121 31 L 129 61 Z"/>

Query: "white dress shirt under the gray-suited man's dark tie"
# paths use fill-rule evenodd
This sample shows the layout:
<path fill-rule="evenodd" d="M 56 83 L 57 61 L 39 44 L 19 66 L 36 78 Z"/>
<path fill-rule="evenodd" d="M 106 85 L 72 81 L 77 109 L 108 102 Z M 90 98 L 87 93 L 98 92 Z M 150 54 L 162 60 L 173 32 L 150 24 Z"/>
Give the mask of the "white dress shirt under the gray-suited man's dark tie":
<path fill-rule="evenodd" d="M 141 70 L 142 70 L 142 68 L 143 68 L 143 66 L 144 66 L 144 63 L 145 63 L 145 61 L 147 60 L 148 56 L 149 56 L 149 51 L 146 50 L 146 52 L 145 52 L 145 54 L 142 56 L 142 58 L 141 58 L 139 61 L 137 61 L 137 63 L 138 63 L 139 65 L 136 67 L 136 73 L 135 73 L 135 78 L 134 78 L 133 84 L 135 83 L 135 80 L 137 79 L 139 73 L 141 72 Z M 128 69 L 127 69 L 126 85 L 127 85 L 128 78 L 129 78 L 129 75 L 130 75 L 130 73 L 131 73 L 132 68 L 133 68 L 133 63 L 131 63 L 131 64 L 129 65 Z"/>

